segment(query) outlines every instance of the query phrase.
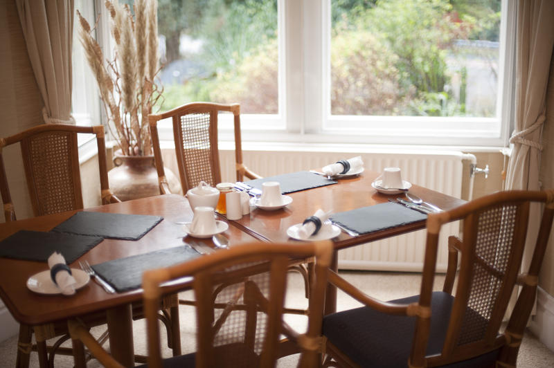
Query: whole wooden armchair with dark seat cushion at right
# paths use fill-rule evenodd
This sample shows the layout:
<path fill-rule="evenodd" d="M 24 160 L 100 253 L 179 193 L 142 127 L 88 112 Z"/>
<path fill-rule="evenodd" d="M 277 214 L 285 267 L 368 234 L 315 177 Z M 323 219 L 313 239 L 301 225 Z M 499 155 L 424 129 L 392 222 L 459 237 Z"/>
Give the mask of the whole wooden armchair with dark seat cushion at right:
<path fill-rule="evenodd" d="M 530 266 L 520 273 L 532 202 L 544 211 Z M 498 192 L 429 214 L 420 295 L 413 297 L 380 302 L 330 273 L 332 284 L 366 306 L 323 318 L 325 364 L 335 365 L 332 358 L 349 367 L 515 367 L 553 214 L 553 190 Z M 443 291 L 432 291 L 440 228 L 456 220 L 463 220 L 463 239 L 449 238 Z M 501 331 L 516 286 L 521 292 Z"/>

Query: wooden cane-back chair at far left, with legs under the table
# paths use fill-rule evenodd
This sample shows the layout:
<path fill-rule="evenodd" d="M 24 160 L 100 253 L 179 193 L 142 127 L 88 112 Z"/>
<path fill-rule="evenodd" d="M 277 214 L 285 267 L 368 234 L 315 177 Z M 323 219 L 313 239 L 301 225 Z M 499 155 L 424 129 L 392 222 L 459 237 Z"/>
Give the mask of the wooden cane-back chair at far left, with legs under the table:
<path fill-rule="evenodd" d="M 98 147 L 98 169 L 100 176 L 100 196 L 102 204 L 120 202 L 109 190 L 104 127 L 78 127 L 75 125 L 39 125 L 22 131 L 19 134 L 0 138 L 0 193 L 3 201 L 6 221 L 15 221 L 15 209 L 10 196 L 6 169 L 2 156 L 3 147 L 19 143 L 23 157 L 26 182 L 30 201 L 35 216 L 53 214 L 83 208 L 82 187 L 80 179 L 80 165 L 78 155 L 78 134 L 94 134 Z M 178 323 L 177 297 L 174 309 L 166 300 L 167 311 L 160 315 L 168 329 Z M 173 311 L 173 313 L 168 312 Z M 142 306 L 133 306 L 134 318 L 142 318 Z M 175 320 L 175 323 L 172 322 Z M 105 313 L 95 313 L 83 317 L 87 326 L 98 326 L 106 323 Z M 178 325 L 177 325 L 178 329 Z M 36 344 L 32 344 L 32 335 L 35 334 Z M 61 336 L 61 337 L 60 337 Z M 46 340 L 60 337 L 51 347 L 46 346 Z M 102 334 L 100 341 L 107 340 L 107 333 Z M 56 353 L 72 355 L 72 349 L 60 347 L 69 340 L 66 322 L 56 322 L 41 326 L 19 326 L 19 340 L 17 350 L 17 367 L 28 367 L 29 354 L 36 350 L 41 367 L 53 367 Z M 170 340 L 171 345 L 171 340 Z M 48 357 L 48 351 L 50 356 Z M 175 351 L 176 354 L 180 351 Z"/>

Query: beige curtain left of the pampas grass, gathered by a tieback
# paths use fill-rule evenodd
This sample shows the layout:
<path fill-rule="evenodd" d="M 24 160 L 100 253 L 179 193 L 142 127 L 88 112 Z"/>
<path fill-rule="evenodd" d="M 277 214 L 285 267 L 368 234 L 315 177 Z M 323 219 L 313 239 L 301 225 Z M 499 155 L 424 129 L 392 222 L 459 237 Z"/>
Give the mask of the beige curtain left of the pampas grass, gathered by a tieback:
<path fill-rule="evenodd" d="M 73 0 L 15 0 L 46 124 L 74 124 L 71 116 Z"/>

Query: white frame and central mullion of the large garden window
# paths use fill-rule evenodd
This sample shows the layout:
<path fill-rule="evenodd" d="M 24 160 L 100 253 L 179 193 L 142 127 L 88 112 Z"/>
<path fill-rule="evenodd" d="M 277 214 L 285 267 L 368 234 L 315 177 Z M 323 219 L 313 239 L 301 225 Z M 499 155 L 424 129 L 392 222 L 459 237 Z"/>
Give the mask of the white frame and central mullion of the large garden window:
<path fill-rule="evenodd" d="M 332 116 L 329 103 L 330 0 L 277 1 L 278 113 L 242 113 L 244 142 L 455 147 L 508 145 L 513 127 L 515 1 L 502 1 L 497 118 Z M 104 17 L 107 15 L 102 14 L 101 19 Z M 107 25 L 103 29 L 102 33 L 109 35 Z M 107 41 L 106 37 L 101 40 Z M 159 134 L 161 140 L 173 139 L 169 120 L 159 123 Z M 220 118 L 220 140 L 233 140 L 229 114 L 222 114 Z"/>

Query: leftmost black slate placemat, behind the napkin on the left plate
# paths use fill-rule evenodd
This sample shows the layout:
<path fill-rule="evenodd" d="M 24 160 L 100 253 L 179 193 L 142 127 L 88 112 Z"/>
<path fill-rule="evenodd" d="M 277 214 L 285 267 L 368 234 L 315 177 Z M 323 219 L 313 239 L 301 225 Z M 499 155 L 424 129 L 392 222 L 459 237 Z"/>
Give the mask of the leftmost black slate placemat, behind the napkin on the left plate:
<path fill-rule="evenodd" d="M 101 237 L 62 232 L 19 230 L 0 241 L 0 257 L 46 262 L 57 251 L 64 256 L 67 264 L 71 264 L 102 240 Z"/>

